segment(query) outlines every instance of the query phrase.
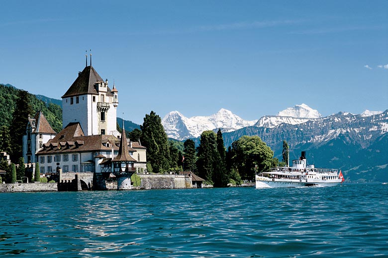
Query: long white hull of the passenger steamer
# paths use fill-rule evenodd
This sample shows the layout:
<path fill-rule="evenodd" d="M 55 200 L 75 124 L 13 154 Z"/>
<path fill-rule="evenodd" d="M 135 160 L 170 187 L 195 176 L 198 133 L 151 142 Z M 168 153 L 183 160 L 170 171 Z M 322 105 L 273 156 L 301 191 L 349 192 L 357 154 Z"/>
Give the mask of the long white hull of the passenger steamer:
<path fill-rule="evenodd" d="M 340 180 L 287 180 L 287 179 L 256 179 L 256 188 L 279 187 L 334 187 L 341 184 Z"/>

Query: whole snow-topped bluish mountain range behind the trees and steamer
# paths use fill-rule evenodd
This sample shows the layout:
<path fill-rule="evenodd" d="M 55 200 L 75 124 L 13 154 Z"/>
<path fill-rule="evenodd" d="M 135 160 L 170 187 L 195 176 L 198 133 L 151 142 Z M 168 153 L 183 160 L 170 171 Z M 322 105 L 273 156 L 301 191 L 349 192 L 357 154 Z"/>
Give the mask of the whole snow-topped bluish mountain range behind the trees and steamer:
<path fill-rule="evenodd" d="M 322 117 L 318 111 L 301 104 L 276 116 L 264 116 L 251 126 L 244 125 L 254 121 L 243 120 L 230 111 L 221 109 L 216 114 L 195 120 L 171 112 L 162 123 L 169 137 L 181 140 L 200 134 L 198 129 L 201 128 L 215 131 L 227 125 L 223 131 L 225 146 L 230 146 L 243 135 L 258 135 L 279 159 L 285 139 L 290 144 L 290 160 L 297 159 L 301 151 L 306 151 L 309 164 L 339 168 L 348 181 L 388 181 L 388 110 L 366 110 L 362 114 L 339 112 Z M 232 119 L 228 120 L 227 114 L 231 114 Z M 222 123 L 216 119 L 220 117 Z M 194 121 L 204 121 L 205 124 L 194 125 Z M 198 144 L 199 138 L 193 138 Z"/>

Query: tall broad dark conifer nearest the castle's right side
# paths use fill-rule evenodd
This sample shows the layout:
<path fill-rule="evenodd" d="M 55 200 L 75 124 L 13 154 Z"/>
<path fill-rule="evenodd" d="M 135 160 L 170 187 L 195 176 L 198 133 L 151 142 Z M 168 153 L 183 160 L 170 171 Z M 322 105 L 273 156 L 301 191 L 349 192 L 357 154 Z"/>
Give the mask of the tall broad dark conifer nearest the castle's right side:
<path fill-rule="evenodd" d="M 170 153 L 167 134 L 162 126 L 161 118 L 151 111 L 140 126 L 142 144 L 147 147 L 147 160 L 151 163 L 154 173 L 166 172 L 170 168 Z"/>

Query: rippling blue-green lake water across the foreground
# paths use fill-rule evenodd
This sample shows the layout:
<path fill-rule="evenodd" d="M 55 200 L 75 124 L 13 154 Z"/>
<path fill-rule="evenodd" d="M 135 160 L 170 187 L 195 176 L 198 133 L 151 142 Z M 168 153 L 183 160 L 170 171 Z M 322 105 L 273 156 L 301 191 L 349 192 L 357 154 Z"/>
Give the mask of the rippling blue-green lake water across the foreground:
<path fill-rule="evenodd" d="M 388 257 L 388 185 L 0 194 L 0 257 Z"/>

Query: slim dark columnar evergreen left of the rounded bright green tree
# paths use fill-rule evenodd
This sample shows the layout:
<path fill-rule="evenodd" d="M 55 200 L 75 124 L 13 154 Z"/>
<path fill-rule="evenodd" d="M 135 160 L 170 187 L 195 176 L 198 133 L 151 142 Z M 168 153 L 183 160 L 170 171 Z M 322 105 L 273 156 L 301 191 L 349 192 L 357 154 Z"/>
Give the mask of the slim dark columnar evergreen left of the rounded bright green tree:
<path fill-rule="evenodd" d="M 227 187 L 228 177 L 226 175 L 225 164 L 226 153 L 221 129 L 218 129 L 217 132 L 217 153 L 218 155 L 215 156 L 215 170 L 213 173 L 214 187 Z"/>

